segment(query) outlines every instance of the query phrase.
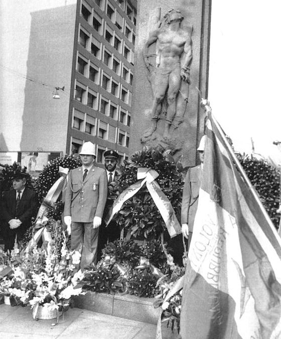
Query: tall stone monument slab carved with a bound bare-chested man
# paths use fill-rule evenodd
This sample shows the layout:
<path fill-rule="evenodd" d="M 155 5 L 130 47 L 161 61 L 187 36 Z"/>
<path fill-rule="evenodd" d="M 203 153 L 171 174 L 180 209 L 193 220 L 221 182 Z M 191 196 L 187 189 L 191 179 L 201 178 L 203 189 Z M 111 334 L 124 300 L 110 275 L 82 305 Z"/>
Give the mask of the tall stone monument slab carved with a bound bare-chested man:
<path fill-rule="evenodd" d="M 196 165 L 207 97 L 209 1 L 138 1 L 131 153 L 166 150 L 183 167 Z"/>

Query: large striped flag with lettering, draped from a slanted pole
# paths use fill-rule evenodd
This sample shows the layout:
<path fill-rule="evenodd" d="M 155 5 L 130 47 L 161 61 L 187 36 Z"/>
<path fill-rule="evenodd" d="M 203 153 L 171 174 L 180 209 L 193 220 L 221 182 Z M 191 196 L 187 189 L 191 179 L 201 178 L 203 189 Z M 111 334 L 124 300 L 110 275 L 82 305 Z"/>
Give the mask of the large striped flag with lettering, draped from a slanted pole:
<path fill-rule="evenodd" d="M 210 107 L 208 118 L 182 339 L 281 338 L 280 238 Z"/>

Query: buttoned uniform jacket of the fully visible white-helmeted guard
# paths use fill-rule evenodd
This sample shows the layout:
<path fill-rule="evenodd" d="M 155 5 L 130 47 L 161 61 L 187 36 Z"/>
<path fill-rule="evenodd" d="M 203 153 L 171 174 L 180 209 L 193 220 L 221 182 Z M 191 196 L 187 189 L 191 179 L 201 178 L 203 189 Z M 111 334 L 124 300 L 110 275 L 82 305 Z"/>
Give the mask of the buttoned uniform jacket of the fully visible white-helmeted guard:
<path fill-rule="evenodd" d="M 82 167 L 69 172 L 64 215 L 74 222 L 92 222 L 94 216 L 103 216 L 107 201 L 107 175 L 102 168 L 92 166 L 83 180 Z"/>

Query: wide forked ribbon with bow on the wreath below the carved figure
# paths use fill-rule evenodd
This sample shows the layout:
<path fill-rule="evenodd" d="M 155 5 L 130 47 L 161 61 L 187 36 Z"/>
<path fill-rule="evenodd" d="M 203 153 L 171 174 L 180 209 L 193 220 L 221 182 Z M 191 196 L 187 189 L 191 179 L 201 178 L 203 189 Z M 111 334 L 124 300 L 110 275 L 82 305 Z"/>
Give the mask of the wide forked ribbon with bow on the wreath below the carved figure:
<path fill-rule="evenodd" d="M 159 174 L 155 170 L 143 167 L 138 168 L 137 179 L 139 179 L 139 181 L 126 188 L 114 201 L 107 225 L 110 223 L 113 216 L 120 211 L 124 202 L 134 196 L 142 186 L 146 184 L 146 187 L 166 224 L 170 237 L 173 238 L 180 234 L 181 227 L 175 216 L 172 204 L 155 180 L 158 176 Z"/>

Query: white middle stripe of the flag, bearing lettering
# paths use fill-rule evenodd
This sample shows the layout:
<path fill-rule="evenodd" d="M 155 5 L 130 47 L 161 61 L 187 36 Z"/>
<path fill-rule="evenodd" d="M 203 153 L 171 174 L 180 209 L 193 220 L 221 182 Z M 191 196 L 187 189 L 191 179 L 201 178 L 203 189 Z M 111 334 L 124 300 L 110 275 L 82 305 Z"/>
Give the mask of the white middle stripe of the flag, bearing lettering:
<path fill-rule="evenodd" d="M 254 299 L 245 285 L 242 254 L 240 248 L 237 248 L 238 243 L 238 229 L 234 217 L 211 200 L 208 192 L 200 189 L 189 251 L 191 266 L 209 285 L 233 298 L 236 303 L 234 318 L 238 332 L 243 338 L 250 338 L 258 327 L 258 318 L 254 312 Z M 227 274 L 222 274 L 223 272 Z M 245 296 L 243 300 L 241 295 Z M 214 302 L 213 308 L 217 307 L 217 316 L 220 316 L 216 296 L 212 298 L 210 304 Z"/>

